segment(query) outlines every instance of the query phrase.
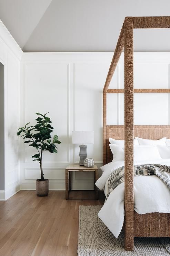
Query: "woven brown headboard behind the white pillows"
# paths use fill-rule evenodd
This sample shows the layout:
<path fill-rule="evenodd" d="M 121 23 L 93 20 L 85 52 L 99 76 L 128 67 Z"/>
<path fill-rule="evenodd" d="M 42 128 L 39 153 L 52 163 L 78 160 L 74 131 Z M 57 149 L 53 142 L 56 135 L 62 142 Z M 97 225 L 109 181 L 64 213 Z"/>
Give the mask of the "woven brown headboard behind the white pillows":
<path fill-rule="evenodd" d="M 134 125 L 134 137 L 143 139 L 170 139 L 170 125 Z M 103 148 L 106 154 L 106 162 L 112 162 L 113 155 L 109 147 L 109 138 L 124 139 L 124 125 L 107 125 L 107 143 Z M 105 163 L 103 163 L 105 164 Z"/>

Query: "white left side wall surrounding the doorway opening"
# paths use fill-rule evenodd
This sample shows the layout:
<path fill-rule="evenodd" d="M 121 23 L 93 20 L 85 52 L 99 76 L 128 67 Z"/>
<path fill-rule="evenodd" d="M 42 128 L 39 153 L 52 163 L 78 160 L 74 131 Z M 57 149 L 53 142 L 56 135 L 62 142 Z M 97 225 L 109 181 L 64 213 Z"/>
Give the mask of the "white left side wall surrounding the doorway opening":
<path fill-rule="evenodd" d="M 20 58 L 22 51 L 0 21 L 0 62 L 4 65 L 4 190 L 0 200 L 8 199 L 20 189 L 19 139 L 16 136 L 20 121 Z M 1 123 L 3 125 L 3 123 Z M 1 170 L 2 171 L 2 170 Z"/>

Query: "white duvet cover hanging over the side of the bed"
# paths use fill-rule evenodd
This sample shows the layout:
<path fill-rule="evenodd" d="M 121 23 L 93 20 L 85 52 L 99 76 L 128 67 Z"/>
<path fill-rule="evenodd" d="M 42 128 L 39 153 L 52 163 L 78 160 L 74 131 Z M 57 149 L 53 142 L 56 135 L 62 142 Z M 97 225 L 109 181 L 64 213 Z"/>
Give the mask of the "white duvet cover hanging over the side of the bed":
<path fill-rule="evenodd" d="M 134 161 L 136 164 L 164 164 L 170 166 L 170 159 Z M 107 180 L 117 168 L 124 166 L 124 161 L 109 163 L 96 182 L 99 189 L 107 194 Z M 170 191 L 157 176 L 134 177 L 134 210 L 139 214 L 148 212 L 170 213 Z M 109 195 L 98 213 L 99 218 L 118 237 L 124 220 L 124 182 Z"/>

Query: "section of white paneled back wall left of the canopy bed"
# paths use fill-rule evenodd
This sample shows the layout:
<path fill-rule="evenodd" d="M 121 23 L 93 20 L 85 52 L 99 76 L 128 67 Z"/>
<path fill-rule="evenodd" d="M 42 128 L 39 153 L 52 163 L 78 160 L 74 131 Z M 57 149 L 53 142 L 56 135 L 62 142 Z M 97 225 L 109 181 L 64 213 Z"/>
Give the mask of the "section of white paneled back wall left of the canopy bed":
<path fill-rule="evenodd" d="M 79 145 L 72 144 L 73 130 L 94 130 L 88 157 L 102 165 L 102 88 L 111 61 L 110 53 L 27 53 L 21 61 L 21 126 L 36 124 L 36 112 L 48 112 L 61 144 L 58 153 L 45 152 L 44 176 L 50 189 L 65 189 L 65 168 L 79 162 Z M 100 74 L 100 75 L 99 75 Z M 32 162 L 34 148 L 21 141 L 21 189 L 35 189 L 39 164 Z M 72 189 L 93 189 L 93 173 L 75 173 Z"/>

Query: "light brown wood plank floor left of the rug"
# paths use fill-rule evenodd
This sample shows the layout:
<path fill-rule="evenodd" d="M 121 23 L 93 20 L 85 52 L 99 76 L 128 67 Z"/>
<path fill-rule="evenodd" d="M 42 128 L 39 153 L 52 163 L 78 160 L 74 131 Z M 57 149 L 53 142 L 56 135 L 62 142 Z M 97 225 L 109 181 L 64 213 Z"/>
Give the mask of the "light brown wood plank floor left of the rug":
<path fill-rule="evenodd" d="M 0 256 L 77 255 L 79 205 L 99 200 L 65 200 L 65 191 L 20 191 L 0 201 Z"/>

